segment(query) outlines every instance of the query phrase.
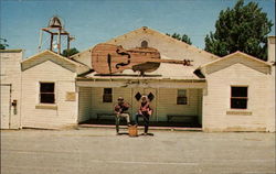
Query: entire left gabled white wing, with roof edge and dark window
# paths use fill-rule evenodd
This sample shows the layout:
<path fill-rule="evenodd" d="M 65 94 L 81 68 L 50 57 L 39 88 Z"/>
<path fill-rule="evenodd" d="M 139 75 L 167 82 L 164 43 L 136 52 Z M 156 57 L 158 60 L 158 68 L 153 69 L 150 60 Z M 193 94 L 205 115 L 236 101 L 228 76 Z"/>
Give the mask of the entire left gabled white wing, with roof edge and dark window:
<path fill-rule="evenodd" d="M 52 129 L 75 124 L 75 78 L 89 68 L 51 51 L 24 59 L 21 68 L 22 127 Z"/>

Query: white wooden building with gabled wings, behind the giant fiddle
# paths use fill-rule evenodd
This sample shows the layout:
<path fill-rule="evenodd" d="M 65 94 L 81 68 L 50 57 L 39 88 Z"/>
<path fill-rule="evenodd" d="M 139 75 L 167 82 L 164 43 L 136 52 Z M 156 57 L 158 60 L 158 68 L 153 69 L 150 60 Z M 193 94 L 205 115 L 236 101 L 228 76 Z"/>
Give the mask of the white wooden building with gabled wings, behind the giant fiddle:
<path fill-rule="evenodd" d="M 131 104 L 129 111 L 135 115 L 140 95 L 148 95 L 152 122 L 195 120 L 203 131 L 275 131 L 275 36 L 268 39 L 268 62 L 241 52 L 217 57 L 148 28 L 106 43 L 125 48 L 148 45 L 162 59 L 189 58 L 193 66 L 161 63 L 145 76 L 131 69 L 106 76 L 93 70 L 93 47 L 70 59 L 44 51 L 22 61 L 14 73 L 21 77 L 14 91 L 20 94 L 15 100 L 21 109 L 9 115 L 9 128 L 60 128 L 99 117 L 113 119 L 119 96 Z M 1 63 L 7 55 L 8 51 L 1 52 Z M 14 100 L 3 98 L 7 95 L 1 93 L 1 108 Z M 6 112 L 12 113 L 12 107 Z M 1 121 L 7 123 L 3 113 L 1 109 Z M 13 124 L 15 117 L 19 121 Z"/>

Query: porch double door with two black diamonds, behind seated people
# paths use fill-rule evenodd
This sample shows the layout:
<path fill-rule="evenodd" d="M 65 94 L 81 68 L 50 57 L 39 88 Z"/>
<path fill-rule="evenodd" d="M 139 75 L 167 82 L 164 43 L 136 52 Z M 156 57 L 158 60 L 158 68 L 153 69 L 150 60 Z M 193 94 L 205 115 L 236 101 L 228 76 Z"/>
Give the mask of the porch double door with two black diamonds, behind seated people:
<path fill-rule="evenodd" d="M 140 107 L 141 96 L 148 96 L 150 100 L 150 107 L 153 109 L 150 121 L 157 121 L 156 112 L 156 101 L 157 101 L 157 89 L 155 88 L 132 88 L 131 94 L 131 106 L 132 106 L 132 116 L 135 116 Z"/>

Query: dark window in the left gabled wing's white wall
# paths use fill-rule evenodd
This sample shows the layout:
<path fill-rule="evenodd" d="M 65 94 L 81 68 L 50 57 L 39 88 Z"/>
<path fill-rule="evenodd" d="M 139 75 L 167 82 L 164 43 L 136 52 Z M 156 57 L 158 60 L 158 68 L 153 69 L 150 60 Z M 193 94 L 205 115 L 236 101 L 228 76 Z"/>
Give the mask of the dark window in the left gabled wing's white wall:
<path fill-rule="evenodd" d="M 40 102 L 54 104 L 54 83 L 40 83 Z"/>

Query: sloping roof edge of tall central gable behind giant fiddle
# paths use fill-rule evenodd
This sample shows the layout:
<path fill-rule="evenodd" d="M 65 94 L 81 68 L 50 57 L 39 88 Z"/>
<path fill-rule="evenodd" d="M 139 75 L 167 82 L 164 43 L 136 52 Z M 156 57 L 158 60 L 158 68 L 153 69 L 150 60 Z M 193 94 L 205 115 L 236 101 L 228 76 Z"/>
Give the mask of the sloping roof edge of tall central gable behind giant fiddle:
<path fill-rule="evenodd" d="M 201 50 L 201 48 L 199 48 L 199 47 L 197 47 L 194 45 L 189 45 L 189 44 L 187 44 L 187 43 L 184 43 L 182 41 L 176 40 L 176 39 L 173 39 L 171 36 L 168 36 L 168 35 L 166 35 L 163 33 L 160 33 L 160 32 L 158 32 L 156 30 L 152 30 L 152 29 L 149 29 L 147 26 L 142 26 L 142 28 L 139 28 L 137 30 L 130 31 L 130 32 L 128 32 L 126 34 L 116 36 L 115 39 L 108 40 L 105 43 L 116 44 L 116 42 L 118 42 L 118 41 L 124 41 L 124 40 L 126 40 L 126 37 L 131 37 L 131 36 L 135 36 L 136 34 L 139 34 L 139 33 L 152 33 L 153 35 L 157 35 L 157 36 L 159 36 L 159 37 L 161 37 L 163 40 L 167 40 L 168 42 L 172 42 L 174 44 L 179 44 L 180 46 L 183 46 L 184 48 L 191 48 L 191 50 L 193 50 L 195 52 L 199 52 L 201 54 L 205 54 L 205 55 L 214 57 L 214 58 L 220 58 L 219 56 L 216 56 L 216 55 L 214 55 L 212 53 L 203 51 L 203 50 Z M 70 58 L 75 58 L 75 57 L 79 56 L 83 53 L 89 52 L 93 47 L 94 46 L 92 46 L 92 47 L 89 47 L 89 48 L 87 48 L 87 50 L 85 50 L 83 52 L 79 52 L 79 53 L 71 56 Z"/>

